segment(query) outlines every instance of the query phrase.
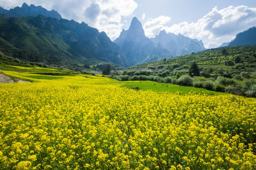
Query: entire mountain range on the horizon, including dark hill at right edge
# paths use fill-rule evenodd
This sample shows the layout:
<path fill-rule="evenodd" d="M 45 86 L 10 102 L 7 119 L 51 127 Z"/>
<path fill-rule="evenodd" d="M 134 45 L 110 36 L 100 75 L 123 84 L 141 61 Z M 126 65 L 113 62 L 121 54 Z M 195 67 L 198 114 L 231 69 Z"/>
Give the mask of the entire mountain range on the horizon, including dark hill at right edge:
<path fill-rule="evenodd" d="M 165 30 L 149 39 L 137 17 L 112 42 L 105 32 L 100 33 L 84 22 L 63 19 L 55 10 L 41 6 L 24 3 L 10 10 L 0 8 L 0 13 L 1 51 L 25 50 L 39 57 L 40 62 L 46 59 L 66 67 L 99 63 L 130 67 L 205 50 L 202 41 L 167 34 Z M 256 45 L 255 36 L 256 27 L 252 27 L 237 34 L 229 46 Z"/>

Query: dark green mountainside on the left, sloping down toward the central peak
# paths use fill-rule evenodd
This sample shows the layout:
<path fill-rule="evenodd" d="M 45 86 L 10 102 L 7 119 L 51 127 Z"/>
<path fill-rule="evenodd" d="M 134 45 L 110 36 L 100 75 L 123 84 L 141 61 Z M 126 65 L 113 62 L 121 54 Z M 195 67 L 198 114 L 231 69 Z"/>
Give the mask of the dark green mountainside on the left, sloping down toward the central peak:
<path fill-rule="evenodd" d="M 102 62 L 128 65 L 119 46 L 104 32 L 83 22 L 40 15 L 12 18 L 0 15 L 0 51 L 18 59 L 51 62 L 67 68 Z"/>

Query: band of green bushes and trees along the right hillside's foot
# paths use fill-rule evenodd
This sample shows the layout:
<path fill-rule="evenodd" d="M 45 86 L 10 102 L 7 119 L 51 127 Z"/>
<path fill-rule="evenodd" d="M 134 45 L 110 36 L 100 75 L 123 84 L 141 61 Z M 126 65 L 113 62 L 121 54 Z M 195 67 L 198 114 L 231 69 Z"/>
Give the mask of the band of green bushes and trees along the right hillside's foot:
<path fill-rule="evenodd" d="M 164 68 L 155 71 L 115 71 L 109 77 L 119 81 L 150 80 L 256 97 L 256 72 L 242 71 L 237 74 L 230 74 L 221 68 L 199 68 L 196 63 L 192 63 L 191 66 L 173 64 L 161 67 Z"/>

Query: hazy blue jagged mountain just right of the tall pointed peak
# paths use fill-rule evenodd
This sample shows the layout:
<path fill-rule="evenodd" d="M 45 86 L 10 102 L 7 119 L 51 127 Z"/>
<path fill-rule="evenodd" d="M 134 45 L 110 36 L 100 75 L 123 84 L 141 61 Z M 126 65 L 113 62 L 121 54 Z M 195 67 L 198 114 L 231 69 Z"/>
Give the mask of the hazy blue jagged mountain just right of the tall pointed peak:
<path fill-rule="evenodd" d="M 162 30 L 155 38 L 151 38 L 155 44 L 160 43 L 173 56 L 189 54 L 191 52 L 205 50 L 203 42 L 197 39 L 191 39 L 181 34 L 166 33 Z"/>

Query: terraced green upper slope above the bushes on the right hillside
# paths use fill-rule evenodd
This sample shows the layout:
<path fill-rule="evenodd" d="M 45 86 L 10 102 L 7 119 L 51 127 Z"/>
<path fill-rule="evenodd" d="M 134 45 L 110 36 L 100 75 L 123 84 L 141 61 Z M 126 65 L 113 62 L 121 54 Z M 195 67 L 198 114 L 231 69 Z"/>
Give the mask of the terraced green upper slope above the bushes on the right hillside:
<path fill-rule="evenodd" d="M 227 54 L 223 54 L 222 50 L 225 49 Z M 163 59 L 155 62 L 144 63 L 131 68 L 146 68 L 148 66 L 160 66 L 160 65 L 172 65 L 180 64 L 183 66 L 190 66 L 192 62 L 196 62 L 200 67 L 205 68 L 222 68 L 224 70 L 239 71 L 239 69 L 234 70 L 232 66 L 227 66 L 224 64 L 225 60 L 235 60 L 236 57 L 240 57 L 241 61 L 247 63 L 256 63 L 256 58 L 253 55 L 256 54 L 256 46 L 245 46 L 245 47 L 221 47 L 216 49 L 209 49 L 205 51 L 195 52 L 192 54 L 183 55 L 180 57 L 169 58 L 164 63 Z M 255 71 L 255 67 L 246 68 L 249 71 Z"/>

